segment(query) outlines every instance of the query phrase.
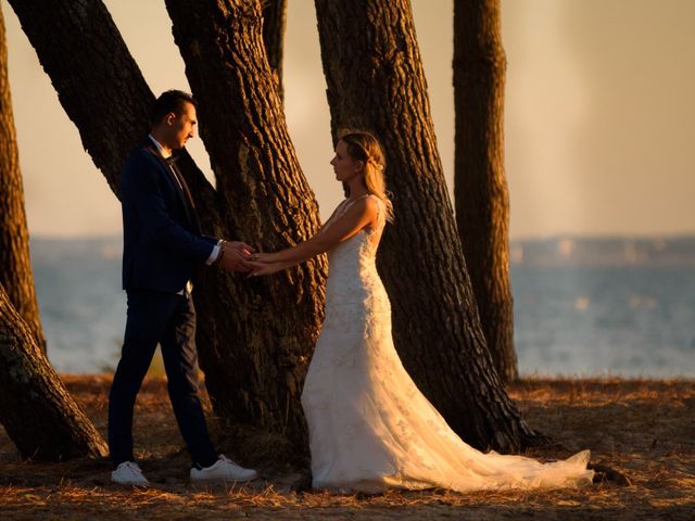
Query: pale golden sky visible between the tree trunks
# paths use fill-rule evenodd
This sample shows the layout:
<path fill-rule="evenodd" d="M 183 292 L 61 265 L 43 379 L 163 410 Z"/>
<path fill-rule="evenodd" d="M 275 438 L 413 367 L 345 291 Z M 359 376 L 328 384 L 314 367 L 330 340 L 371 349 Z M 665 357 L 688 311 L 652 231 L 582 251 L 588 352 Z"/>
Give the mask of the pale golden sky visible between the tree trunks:
<path fill-rule="evenodd" d="M 106 0 L 150 88 L 189 90 L 162 0 Z M 313 0 L 289 0 L 286 114 L 326 218 L 342 191 Z M 2 7 L 29 232 L 121 233 L 118 201 L 7 0 Z M 453 194 L 452 0 L 413 0 Z M 695 1 L 502 0 L 511 239 L 695 233 Z M 108 56 L 104 56 L 108 59 Z M 204 122 L 201 122 L 204 125 Z M 212 179 L 202 141 L 188 150 Z"/>

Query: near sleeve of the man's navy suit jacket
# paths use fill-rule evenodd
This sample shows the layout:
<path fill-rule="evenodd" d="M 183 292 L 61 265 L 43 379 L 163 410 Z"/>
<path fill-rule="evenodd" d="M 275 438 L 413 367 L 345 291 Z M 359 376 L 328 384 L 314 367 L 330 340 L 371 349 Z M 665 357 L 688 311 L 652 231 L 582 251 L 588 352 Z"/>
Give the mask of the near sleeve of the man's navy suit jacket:
<path fill-rule="evenodd" d="M 156 164 L 136 155 L 121 177 L 122 203 L 136 213 L 138 224 L 142 226 L 140 242 L 204 263 L 216 240 L 191 233 L 172 218 L 157 168 Z"/>

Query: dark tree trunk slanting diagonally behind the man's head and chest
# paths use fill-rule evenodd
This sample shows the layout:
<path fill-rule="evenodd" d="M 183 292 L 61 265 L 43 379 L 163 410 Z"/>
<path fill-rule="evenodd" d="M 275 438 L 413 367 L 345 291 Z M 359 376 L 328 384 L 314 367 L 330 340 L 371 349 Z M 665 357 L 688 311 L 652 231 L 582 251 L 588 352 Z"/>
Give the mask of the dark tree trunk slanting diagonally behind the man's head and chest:
<path fill-rule="evenodd" d="M 9 0 L 85 150 L 116 194 L 127 155 L 150 129 L 154 94 L 101 0 Z M 104 56 L 108 56 L 105 59 Z M 215 192 L 184 152 L 181 169 L 202 208 Z M 215 228 L 214 212 L 202 212 Z"/>

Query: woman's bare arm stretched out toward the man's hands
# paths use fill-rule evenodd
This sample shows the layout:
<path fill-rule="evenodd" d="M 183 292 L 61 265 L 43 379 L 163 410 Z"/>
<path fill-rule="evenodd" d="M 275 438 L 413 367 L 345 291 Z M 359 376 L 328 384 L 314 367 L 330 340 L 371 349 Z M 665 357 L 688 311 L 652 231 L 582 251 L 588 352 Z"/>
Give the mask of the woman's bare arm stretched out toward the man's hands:
<path fill-rule="evenodd" d="M 254 255 L 254 260 L 261 263 L 282 263 L 285 266 L 282 268 L 278 266 L 279 269 L 303 263 L 321 253 L 328 252 L 338 243 L 350 239 L 365 226 L 375 223 L 377 212 L 377 203 L 371 198 L 359 199 L 348 208 L 344 215 L 338 217 L 330 227 L 325 228 L 311 239 L 280 252 L 256 254 Z M 265 275 L 265 272 L 258 275 Z"/>

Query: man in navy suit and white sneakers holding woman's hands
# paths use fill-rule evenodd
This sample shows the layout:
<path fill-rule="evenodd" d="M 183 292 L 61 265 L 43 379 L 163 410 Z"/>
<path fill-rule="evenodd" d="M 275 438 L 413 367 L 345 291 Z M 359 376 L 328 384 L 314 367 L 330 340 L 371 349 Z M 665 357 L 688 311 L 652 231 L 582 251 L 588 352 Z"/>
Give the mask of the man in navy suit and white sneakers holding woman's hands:
<path fill-rule="evenodd" d="M 191 455 L 191 481 L 249 481 L 257 476 L 223 455 L 210 441 L 198 398 L 194 271 L 203 265 L 248 271 L 253 250 L 201 233 L 191 193 L 173 152 L 194 136 L 195 101 L 164 92 L 152 111 L 151 132 L 127 158 L 121 176 L 123 288 L 128 315 L 121 361 L 109 395 L 111 480 L 147 486 L 132 455 L 132 409 L 157 343 L 169 399 Z"/>

